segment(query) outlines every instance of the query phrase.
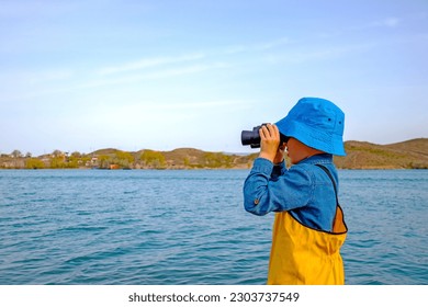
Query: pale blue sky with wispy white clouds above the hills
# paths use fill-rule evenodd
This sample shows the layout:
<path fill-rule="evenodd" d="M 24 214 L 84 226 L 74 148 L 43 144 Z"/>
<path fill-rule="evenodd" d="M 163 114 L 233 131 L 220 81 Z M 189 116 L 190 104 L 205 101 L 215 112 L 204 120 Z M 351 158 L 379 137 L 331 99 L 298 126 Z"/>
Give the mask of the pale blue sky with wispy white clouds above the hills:
<path fill-rule="evenodd" d="M 428 137 L 428 1 L 0 0 L 0 152 L 248 152 L 302 96 Z"/>

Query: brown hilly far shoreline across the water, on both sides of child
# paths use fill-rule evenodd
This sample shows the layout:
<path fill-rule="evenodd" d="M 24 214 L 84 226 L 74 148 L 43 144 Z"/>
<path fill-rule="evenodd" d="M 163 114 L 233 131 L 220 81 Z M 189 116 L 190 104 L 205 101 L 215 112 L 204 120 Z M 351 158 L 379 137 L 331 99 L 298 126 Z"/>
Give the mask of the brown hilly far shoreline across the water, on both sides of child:
<path fill-rule="evenodd" d="M 339 169 L 428 169 L 428 138 L 376 145 L 367 141 L 345 143 L 346 157 L 335 157 Z M 91 154 L 55 150 L 41 157 L 25 157 L 14 150 L 1 155 L 0 169 L 100 168 L 100 169 L 249 169 L 258 157 L 254 154 L 211 152 L 194 148 L 171 151 L 142 149 L 122 151 L 99 149 Z"/>

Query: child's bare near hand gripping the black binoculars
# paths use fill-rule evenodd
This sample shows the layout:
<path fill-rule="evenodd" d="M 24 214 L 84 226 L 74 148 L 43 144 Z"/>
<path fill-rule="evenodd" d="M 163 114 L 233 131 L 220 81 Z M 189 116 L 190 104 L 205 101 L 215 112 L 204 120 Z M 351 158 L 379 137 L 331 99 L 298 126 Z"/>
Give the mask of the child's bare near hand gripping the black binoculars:
<path fill-rule="evenodd" d="M 260 158 L 279 163 L 283 159 L 283 146 L 280 147 L 280 130 L 275 125 L 263 125 L 260 130 Z"/>

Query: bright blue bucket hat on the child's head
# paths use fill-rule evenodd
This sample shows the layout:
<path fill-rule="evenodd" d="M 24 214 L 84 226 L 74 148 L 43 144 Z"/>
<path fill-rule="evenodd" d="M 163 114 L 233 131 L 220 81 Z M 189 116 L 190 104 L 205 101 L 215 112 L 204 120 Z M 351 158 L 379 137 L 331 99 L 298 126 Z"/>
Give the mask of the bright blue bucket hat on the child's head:
<path fill-rule="evenodd" d="M 302 98 L 277 124 L 280 133 L 312 148 L 346 156 L 343 148 L 345 113 L 331 101 Z"/>

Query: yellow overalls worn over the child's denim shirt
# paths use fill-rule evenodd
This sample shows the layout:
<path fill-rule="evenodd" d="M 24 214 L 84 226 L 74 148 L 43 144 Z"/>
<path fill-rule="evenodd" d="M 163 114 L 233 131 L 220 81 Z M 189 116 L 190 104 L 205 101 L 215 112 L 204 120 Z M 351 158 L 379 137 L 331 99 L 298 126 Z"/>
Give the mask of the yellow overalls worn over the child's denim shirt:
<path fill-rule="evenodd" d="M 308 228 L 288 212 L 275 213 L 268 284 L 345 284 L 340 248 L 347 231 L 339 205 L 331 232 Z"/>

